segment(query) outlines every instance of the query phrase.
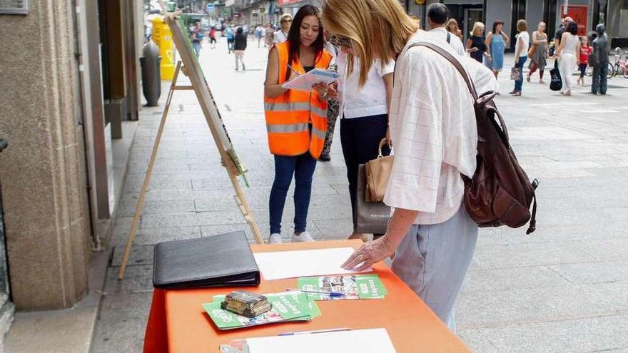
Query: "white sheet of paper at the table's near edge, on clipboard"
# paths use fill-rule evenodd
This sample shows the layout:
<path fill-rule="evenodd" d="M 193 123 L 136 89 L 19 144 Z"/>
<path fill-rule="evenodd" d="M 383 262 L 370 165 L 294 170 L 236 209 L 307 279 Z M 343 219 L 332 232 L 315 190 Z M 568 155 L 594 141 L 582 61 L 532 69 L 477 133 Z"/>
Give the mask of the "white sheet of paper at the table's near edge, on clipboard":
<path fill-rule="evenodd" d="M 297 334 L 246 339 L 250 353 L 396 353 L 386 329 Z"/>

